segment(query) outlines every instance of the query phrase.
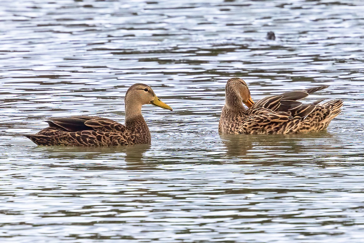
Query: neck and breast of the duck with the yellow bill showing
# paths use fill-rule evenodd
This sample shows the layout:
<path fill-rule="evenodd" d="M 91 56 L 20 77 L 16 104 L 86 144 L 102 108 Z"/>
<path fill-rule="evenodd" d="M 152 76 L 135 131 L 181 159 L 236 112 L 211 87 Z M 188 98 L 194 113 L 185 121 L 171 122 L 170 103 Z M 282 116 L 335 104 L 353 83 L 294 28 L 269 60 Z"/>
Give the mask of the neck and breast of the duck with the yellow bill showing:
<path fill-rule="evenodd" d="M 141 105 L 125 103 L 125 126 L 135 135 L 136 144 L 150 144 L 150 131 L 143 118 Z"/>

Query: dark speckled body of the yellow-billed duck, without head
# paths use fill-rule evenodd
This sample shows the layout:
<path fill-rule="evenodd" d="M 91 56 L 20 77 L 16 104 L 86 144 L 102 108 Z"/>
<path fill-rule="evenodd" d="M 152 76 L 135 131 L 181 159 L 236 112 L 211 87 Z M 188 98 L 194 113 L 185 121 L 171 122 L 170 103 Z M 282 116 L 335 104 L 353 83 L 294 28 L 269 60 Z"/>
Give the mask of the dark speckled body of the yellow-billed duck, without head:
<path fill-rule="evenodd" d="M 149 144 L 149 128 L 143 117 L 127 127 L 102 117 L 76 116 L 48 119 L 48 128 L 25 135 L 43 146 L 117 146 Z"/>

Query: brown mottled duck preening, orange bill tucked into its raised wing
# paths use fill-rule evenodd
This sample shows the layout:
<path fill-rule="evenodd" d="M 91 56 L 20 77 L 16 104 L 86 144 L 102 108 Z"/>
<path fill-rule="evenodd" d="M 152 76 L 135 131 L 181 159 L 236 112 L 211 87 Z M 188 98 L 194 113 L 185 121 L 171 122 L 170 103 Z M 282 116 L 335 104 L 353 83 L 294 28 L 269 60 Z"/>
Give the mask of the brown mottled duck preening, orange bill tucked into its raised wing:
<path fill-rule="evenodd" d="M 254 102 L 248 85 L 241 78 L 230 78 L 225 87 L 225 105 L 219 120 L 219 133 L 225 134 L 290 134 L 325 130 L 340 114 L 341 99 L 309 104 L 300 99 L 328 86 L 289 91 Z M 245 107 L 244 105 L 247 107 Z"/>

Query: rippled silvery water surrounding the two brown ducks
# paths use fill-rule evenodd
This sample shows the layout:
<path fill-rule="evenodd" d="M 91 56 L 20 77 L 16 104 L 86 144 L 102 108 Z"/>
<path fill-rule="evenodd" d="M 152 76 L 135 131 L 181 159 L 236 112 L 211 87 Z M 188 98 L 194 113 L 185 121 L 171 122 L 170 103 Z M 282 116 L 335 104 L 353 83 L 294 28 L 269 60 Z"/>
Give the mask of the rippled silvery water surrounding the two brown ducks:
<path fill-rule="evenodd" d="M 364 3 L 1 1 L 1 242 L 361 243 Z M 266 40 L 274 31 L 276 40 Z M 217 132 L 227 79 L 254 100 L 329 85 L 327 131 Z M 123 122 L 151 85 L 151 145 L 36 146 L 45 117 Z"/>

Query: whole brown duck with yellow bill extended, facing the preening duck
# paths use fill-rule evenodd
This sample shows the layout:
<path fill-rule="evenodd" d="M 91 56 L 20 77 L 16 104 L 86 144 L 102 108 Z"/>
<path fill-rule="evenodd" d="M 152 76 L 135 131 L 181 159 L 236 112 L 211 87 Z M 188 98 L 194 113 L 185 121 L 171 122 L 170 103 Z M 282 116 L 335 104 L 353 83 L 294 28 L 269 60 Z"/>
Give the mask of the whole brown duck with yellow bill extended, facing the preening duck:
<path fill-rule="evenodd" d="M 125 94 L 125 125 L 96 116 L 72 116 L 47 119 L 48 127 L 36 134 L 25 134 L 41 146 L 118 146 L 150 144 L 151 134 L 142 115 L 142 106 L 151 104 L 172 111 L 152 88 L 135 83 Z"/>

